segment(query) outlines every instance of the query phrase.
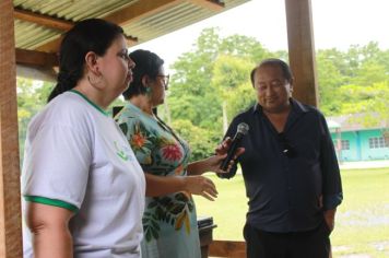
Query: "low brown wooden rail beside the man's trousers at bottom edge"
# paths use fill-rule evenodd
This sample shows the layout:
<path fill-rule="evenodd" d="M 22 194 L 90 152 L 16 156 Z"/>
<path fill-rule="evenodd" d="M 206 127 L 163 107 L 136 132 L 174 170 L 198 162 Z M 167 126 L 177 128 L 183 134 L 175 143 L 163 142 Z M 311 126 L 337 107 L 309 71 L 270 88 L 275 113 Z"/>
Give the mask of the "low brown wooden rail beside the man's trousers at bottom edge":
<path fill-rule="evenodd" d="M 209 247 L 210 257 L 246 257 L 246 243 L 235 241 L 213 241 Z"/>

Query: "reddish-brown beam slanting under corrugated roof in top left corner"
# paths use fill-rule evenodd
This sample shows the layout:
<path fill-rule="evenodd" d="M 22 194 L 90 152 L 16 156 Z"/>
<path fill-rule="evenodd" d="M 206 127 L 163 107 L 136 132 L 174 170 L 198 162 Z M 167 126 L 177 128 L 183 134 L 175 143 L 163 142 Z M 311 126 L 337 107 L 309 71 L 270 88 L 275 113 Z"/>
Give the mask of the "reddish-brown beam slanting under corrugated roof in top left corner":
<path fill-rule="evenodd" d="M 45 27 L 50 27 L 59 31 L 69 31 L 74 23 L 62 19 L 56 19 L 44 14 L 38 14 L 31 11 L 25 11 L 20 8 L 14 8 L 15 19 L 35 23 Z"/>

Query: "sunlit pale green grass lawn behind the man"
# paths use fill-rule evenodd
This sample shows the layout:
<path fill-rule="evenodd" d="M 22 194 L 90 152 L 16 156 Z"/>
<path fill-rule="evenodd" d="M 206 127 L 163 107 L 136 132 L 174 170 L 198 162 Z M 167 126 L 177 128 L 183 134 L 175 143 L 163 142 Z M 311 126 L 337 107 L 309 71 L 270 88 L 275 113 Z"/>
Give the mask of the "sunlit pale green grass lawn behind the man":
<path fill-rule="evenodd" d="M 343 203 L 331 235 L 333 257 L 389 257 L 389 168 L 342 171 Z M 194 197 L 199 216 L 213 216 L 214 239 L 244 241 L 247 199 L 243 177 L 207 175 L 217 187 L 211 202 Z"/>

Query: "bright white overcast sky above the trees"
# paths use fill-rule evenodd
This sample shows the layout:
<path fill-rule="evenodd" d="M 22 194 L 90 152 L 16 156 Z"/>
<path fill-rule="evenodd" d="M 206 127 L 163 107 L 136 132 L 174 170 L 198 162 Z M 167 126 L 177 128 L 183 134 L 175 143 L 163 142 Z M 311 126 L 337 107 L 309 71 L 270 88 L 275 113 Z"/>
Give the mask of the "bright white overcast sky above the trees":
<path fill-rule="evenodd" d="M 219 27 L 223 37 L 252 36 L 269 50 L 287 50 L 285 0 L 251 0 L 213 17 L 164 35 L 129 50 L 148 49 L 168 68 L 182 52 L 193 49 L 201 31 Z M 378 42 L 389 49 L 389 0 L 311 0 L 316 49 L 346 50 L 351 45 Z"/>

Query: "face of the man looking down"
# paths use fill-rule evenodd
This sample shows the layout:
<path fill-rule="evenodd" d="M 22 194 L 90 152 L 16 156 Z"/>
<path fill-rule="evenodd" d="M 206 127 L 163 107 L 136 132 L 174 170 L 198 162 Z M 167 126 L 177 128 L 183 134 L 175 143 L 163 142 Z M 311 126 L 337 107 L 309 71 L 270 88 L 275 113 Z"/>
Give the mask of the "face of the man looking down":
<path fill-rule="evenodd" d="M 264 64 L 254 77 L 258 103 L 267 113 L 282 113 L 288 108 L 292 82 L 288 82 L 276 64 Z"/>

